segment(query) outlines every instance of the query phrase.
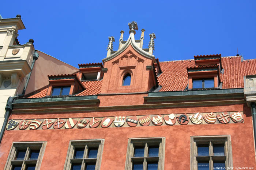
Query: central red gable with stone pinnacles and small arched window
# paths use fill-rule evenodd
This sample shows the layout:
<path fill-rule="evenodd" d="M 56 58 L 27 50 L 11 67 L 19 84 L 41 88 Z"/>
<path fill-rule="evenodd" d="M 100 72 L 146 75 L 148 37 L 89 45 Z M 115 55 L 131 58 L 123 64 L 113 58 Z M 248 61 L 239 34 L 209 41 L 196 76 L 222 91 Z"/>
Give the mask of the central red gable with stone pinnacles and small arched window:
<path fill-rule="evenodd" d="M 129 25 L 129 37 L 123 40 L 121 31 L 117 51 L 113 51 L 114 37 L 109 37 L 107 57 L 103 59 L 106 72 L 103 76 L 101 93 L 147 92 L 158 87 L 157 70 L 161 71 L 153 55 L 155 34 L 150 34 L 149 48 L 143 48 L 144 29 L 139 40 L 135 40 L 135 21 Z M 158 63 L 155 65 L 155 63 Z M 155 69 L 158 66 L 158 69 Z"/>

